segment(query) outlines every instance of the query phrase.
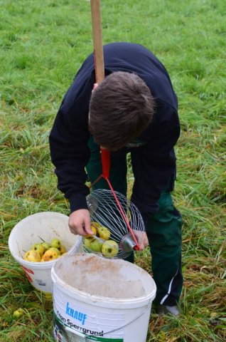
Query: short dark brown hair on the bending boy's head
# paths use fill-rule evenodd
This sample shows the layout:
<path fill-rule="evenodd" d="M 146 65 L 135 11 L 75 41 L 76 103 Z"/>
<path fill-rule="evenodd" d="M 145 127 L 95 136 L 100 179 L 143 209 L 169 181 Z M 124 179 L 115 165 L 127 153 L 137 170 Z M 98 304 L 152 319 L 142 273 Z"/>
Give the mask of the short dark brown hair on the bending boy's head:
<path fill-rule="evenodd" d="M 92 92 L 90 133 L 97 144 L 119 150 L 147 128 L 154 108 L 151 90 L 139 76 L 115 71 Z"/>

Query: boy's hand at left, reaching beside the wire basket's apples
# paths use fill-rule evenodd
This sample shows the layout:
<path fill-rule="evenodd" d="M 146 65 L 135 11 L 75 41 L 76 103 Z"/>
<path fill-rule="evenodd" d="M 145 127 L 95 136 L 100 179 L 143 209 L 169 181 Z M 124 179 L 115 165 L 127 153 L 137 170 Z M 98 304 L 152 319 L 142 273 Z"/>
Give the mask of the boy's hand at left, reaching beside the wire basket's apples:
<path fill-rule="evenodd" d="M 85 237 L 87 234 L 92 234 L 90 227 L 90 212 L 88 209 L 79 209 L 72 212 L 69 217 L 68 225 L 72 234 L 78 234 Z"/>

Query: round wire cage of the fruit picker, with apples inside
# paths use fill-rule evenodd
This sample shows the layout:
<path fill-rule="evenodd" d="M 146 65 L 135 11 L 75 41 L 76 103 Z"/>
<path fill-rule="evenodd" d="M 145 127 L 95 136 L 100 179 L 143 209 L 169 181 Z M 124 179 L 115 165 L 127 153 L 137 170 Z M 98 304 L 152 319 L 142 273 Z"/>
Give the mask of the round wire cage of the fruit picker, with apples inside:
<path fill-rule="evenodd" d="M 125 259 L 134 250 L 139 250 L 140 233 L 145 231 L 144 222 L 129 199 L 119 192 L 99 189 L 87 197 L 87 204 L 94 235 L 83 238 L 86 252 Z"/>

